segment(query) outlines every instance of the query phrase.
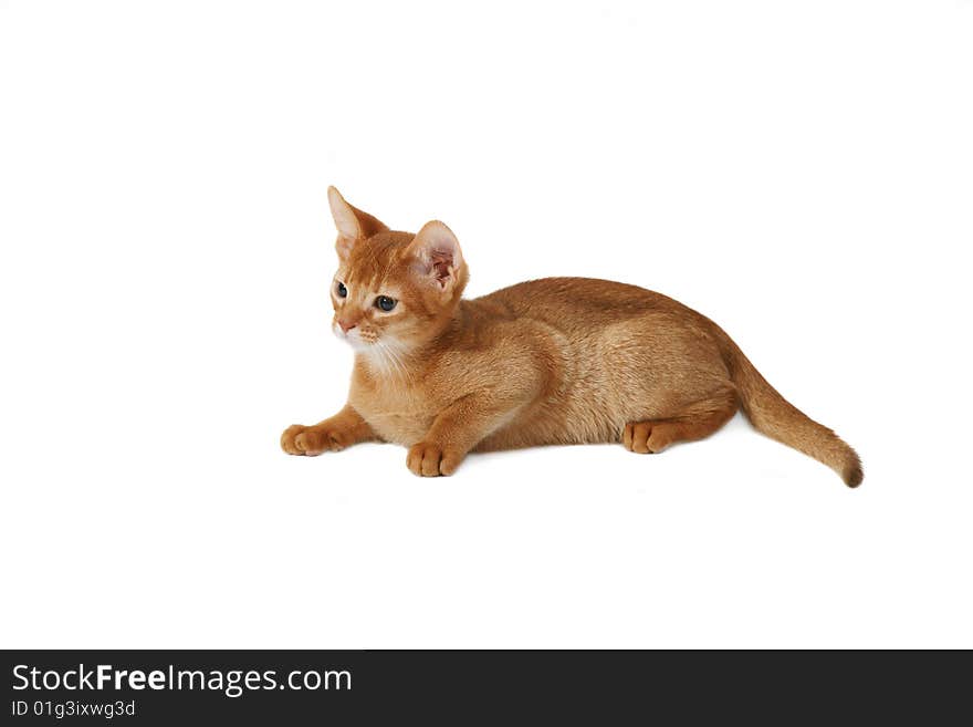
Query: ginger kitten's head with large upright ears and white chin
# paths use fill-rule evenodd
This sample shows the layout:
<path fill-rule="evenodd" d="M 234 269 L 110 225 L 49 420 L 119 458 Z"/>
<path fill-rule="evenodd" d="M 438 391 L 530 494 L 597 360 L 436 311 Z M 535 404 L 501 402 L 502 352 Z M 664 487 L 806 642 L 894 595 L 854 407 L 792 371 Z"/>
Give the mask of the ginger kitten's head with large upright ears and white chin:
<path fill-rule="evenodd" d="M 452 318 L 469 277 L 460 243 L 440 221 L 396 232 L 334 187 L 327 200 L 338 230 L 332 329 L 377 363 L 395 362 Z"/>

